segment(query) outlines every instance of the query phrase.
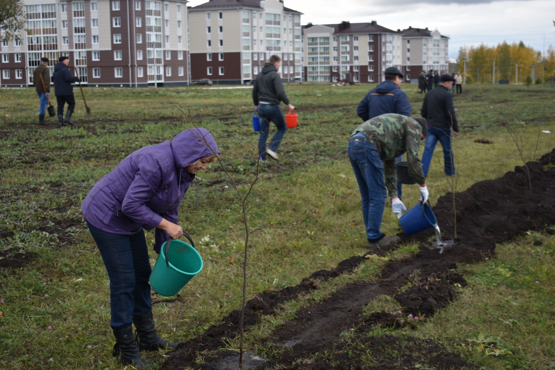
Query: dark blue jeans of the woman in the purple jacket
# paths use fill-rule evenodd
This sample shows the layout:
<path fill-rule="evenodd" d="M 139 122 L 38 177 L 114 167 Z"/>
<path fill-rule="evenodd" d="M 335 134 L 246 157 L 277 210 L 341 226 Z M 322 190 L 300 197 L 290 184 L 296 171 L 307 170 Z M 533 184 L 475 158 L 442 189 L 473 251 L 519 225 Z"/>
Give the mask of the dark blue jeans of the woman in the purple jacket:
<path fill-rule="evenodd" d="M 134 235 L 118 235 L 89 224 L 90 234 L 98 246 L 110 278 L 110 306 L 114 329 L 131 326 L 132 316 L 152 310 L 150 261 L 144 231 Z"/>

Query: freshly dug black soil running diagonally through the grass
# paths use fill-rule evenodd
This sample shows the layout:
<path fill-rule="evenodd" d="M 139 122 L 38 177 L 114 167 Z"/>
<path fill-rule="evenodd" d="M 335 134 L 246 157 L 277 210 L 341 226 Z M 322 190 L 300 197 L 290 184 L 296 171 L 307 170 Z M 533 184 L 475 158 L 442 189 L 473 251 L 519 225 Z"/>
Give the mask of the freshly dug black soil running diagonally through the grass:
<path fill-rule="evenodd" d="M 407 310 L 405 310 L 407 313 L 433 315 L 438 308 L 447 305 L 453 299 L 452 285 L 455 283 L 463 285 L 465 283 L 462 276 L 452 272 L 456 268 L 456 263 L 480 261 L 494 253 L 496 243 L 512 240 L 528 230 L 542 230 L 544 225 L 555 224 L 555 169 L 543 168 L 543 165 L 549 163 L 555 163 L 555 150 L 544 155 L 538 162 L 527 163 L 532 179 L 532 191 L 528 189 L 526 169 L 517 166 L 514 171 L 506 173 L 502 178 L 481 181 L 472 185 L 469 189 L 459 192 L 456 195 L 458 239 L 451 249 L 440 255 L 437 250 L 429 250 L 422 245 L 420 252 L 416 255 L 404 260 L 387 263 L 382 270 L 382 277 L 379 281 L 373 283 L 357 282 L 346 285 L 326 300 L 302 308 L 297 312 L 295 319 L 280 327 L 266 340 L 261 341 L 262 343 L 271 342 L 278 345 L 289 341 L 291 347 L 281 348 L 277 359 L 273 359 L 270 363 L 259 366 L 257 369 L 279 365 L 289 366 L 287 369 L 350 369 L 351 366 L 355 365 L 360 365 L 361 367 L 358 368 L 361 369 L 372 368 L 357 364 L 355 358 L 345 360 L 346 362 L 342 365 L 340 361 L 337 367 L 331 366 L 331 364 L 321 364 L 321 367 L 305 365 L 300 367 L 300 365 L 294 365 L 294 363 L 296 359 L 309 357 L 311 354 L 325 349 L 334 349 L 340 334 L 356 325 L 360 325 L 362 330 L 368 330 L 377 323 L 410 325 L 408 322 L 400 323 L 395 317 L 388 316 L 386 313 L 371 316 L 367 323 L 361 322 L 362 308 L 376 295 L 393 296 L 401 305 L 407 307 Z M 451 194 L 447 194 L 440 197 L 433 208 L 437 219 L 442 220 L 442 223 L 445 224 L 444 232 L 447 232 L 447 234 L 451 234 L 453 229 L 451 205 Z M 430 232 L 422 232 L 421 235 L 405 239 L 425 241 L 431 235 Z M 354 262 L 357 266 L 362 259 L 364 257 L 351 257 L 346 261 Z M 427 278 L 416 283 L 406 292 L 395 295 L 396 289 L 401 287 L 407 281 L 410 273 L 415 270 L 418 270 L 420 276 Z M 352 268 L 346 269 L 344 272 L 346 271 L 352 271 Z M 300 285 L 290 287 L 291 290 L 300 289 L 301 291 L 298 293 L 286 294 L 285 292 L 289 288 L 284 288 L 280 292 L 264 293 L 266 295 L 273 294 L 277 299 L 271 302 L 260 300 L 259 305 L 263 305 L 263 307 L 255 307 L 251 304 L 247 308 L 248 311 L 245 312 L 245 320 L 249 321 L 246 322 L 246 325 L 254 325 L 259 321 L 260 315 L 271 314 L 279 303 L 293 299 L 301 292 L 314 288 L 311 287 L 311 283 L 314 284 L 314 282 L 311 282 L 311 278 L 319 277 L 314 276 L 315 274 L 305 279 Z M 304 288 L 300 288 L 301 286 L 304 286 Z M 249 301 L 249 303 L 255 303 L 253 301 L 256 298 Z M 267 307 L 264 306 L 266 304 L 268 304 Z M 228 319 L 234 313 L 238 318 L 239 311 L 234 311 Z M 228 323 L 228 319 L 224 321 L 224 326 Z M 181 343 L 170 354 L 170 358 L 163 364 L 162 368 L 221 369 L 216 364 L 199 365 L 194 360 L 197 352 L 206 351 L 206 349 L 217 351 L 218 347 L 223 346 L 221 339 L 224 336 L 234 336 L 237 332 L 238 320 L 233 324 L 228 323 L 227 325 L 230 328 L 235 327 L 235 330 L 229 330 L 225 334 L 223 333 L 222 336 L 215 337 L 211 333 L 223 325 L 213 326 L 203 336 Z M 360 334 L 360 331 L 357 333 Z M 428 363 L 435 363 L 434 366 L 438 368 L 444 368 L 447 365 L 453 368 L 468 366 L 460 356 L 441 352 L 441 346 L 438 346 L 437 343 L 433 346 L 435 346 L 437 352 L 433 353 Z M 375 350 L 378 351 L 379 348 Z M 214 355 L 220 357 L 224 353 L 219 355 L 214 353 Z M 443 365 L 441 359 L 445 360 Z M 408 363 L 411 363 L 411 361 L 408 361 Z M 387 362 L 382 365 L 377 368 L 388 368 Z"/>

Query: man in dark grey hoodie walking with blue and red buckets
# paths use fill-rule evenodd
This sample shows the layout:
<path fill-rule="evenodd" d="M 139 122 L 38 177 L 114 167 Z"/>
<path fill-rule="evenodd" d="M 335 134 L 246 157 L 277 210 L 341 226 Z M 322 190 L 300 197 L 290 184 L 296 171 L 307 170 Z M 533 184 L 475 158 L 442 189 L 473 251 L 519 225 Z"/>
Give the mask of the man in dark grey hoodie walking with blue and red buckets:
<path fill-rule="evenodd" d="M 260 119 L 260 137 L 258 139 L 258 153 L 260 159 L 266 160 L 266 153 L 271 158 L 279 160 L 278 151 L 281 140 L 285 136 L 287 126 L 285 125 L 285 118 L 281 113 L 279 105 L 281 102 L 287 104 L 289 109 L 295 109 L 289 103 L 289 98 L 285 94 L 281 77 L 278 73 L 281 65 L 281 58 L 278 55 L 272 55 L 268 63 L 264 65 L 256 83 L 253 88 L 253 103 L 258 109 L 258 116 Z M 270 128 L 270 121 L 276 125 L 278 132 L 275 133 L 271 141 L 268 141 L 268 131 Z M 266 143 L 270 146 L 266 148 Z"/>

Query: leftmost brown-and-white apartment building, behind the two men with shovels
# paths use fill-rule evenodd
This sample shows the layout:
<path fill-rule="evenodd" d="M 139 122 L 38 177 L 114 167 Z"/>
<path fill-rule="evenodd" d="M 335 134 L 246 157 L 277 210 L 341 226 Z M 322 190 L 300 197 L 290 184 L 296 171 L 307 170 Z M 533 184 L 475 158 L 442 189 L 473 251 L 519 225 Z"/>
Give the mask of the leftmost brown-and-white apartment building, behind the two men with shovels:
<path fill-rule="evenodd" d="M 24 0 L 23 41 L 3 40 L 0 47 L 0 85 L 31 85 L 41 58 L 53 68 L 60 55 L 83 84 L 189 84 L 186 3 Z"/>

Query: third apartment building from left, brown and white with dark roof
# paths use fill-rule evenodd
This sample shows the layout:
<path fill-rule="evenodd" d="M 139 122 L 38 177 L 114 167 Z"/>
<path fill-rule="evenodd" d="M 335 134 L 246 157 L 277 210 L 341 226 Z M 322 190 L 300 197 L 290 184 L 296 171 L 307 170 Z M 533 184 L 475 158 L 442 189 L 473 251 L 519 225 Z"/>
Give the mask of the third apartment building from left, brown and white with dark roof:
<path fill-rule="evenodd" d="M 387 67 L 402 67 L 401 35 L 376 21 L 309 23 L 303 40 L 307 82 L 380 82 Z"/>

